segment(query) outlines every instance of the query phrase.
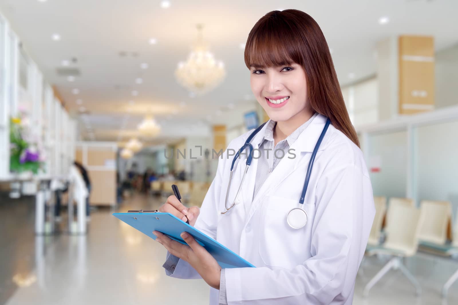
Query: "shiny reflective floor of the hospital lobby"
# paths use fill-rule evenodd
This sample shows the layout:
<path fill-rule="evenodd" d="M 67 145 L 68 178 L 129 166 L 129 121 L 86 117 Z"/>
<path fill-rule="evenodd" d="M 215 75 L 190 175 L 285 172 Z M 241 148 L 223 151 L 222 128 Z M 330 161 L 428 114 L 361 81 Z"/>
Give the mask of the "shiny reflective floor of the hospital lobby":
<path fill-rule="evenodd" d="M 121 204 L 119 211 L 157 209 L 160 203 L 137 195 Z M 15 209 L 4 206 L 0 211 L 4 232 L 0 239 L 1 298 L 5 295 L 0 304 L 6 300 L 7 305 L 208 304 L 207 284 L 167 277 L 161 267 L 164 248 L 112 216 L 114 210 L 93 212 L 87 236 L 34 237 L 30 207 L 33 202 Z M 18 216 L 5 217 L 5 213 Z M 3 248 L 5 244 L 9 250 Z M 423 258 L 407 262 L 422 284 L 420 298 L 398 271 L 391 271 L 368 298 L 362 298 L 365 283 L 382 265 L 382 259 L 365 261 L 364 274 L 356 279 L 354 304 L 458 304 L 458 283 L 450 289 L 448 301 L 440 297 L 442 284 L 458 262 Z M 12 281 L 15 274 L 22 287 Z"/>

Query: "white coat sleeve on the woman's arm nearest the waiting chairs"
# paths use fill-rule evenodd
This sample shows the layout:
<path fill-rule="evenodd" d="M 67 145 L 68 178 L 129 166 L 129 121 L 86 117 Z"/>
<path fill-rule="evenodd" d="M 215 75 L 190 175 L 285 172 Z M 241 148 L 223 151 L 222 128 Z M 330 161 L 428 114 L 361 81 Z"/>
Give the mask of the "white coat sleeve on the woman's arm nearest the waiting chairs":
<path fill-rule="evenodd" d="M 375 214 L 372 187 L 354 164 L 327 168 L 316 187 L 312 257 L 292 269 L 226 269 L 229 305 L 351 304 Z"/>

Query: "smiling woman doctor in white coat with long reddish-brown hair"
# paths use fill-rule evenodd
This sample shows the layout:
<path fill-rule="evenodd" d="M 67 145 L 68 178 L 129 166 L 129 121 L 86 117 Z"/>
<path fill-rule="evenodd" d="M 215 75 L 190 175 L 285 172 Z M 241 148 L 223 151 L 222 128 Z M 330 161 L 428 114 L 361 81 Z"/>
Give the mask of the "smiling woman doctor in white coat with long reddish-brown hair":
<path fill-rule="evenodd" d="M 352 304 L 375 208 L 326 39 L 306 13 L 271 11 L 248 36 L 245 64 L 251 90 L 270 120 L 251 139 L 253 159 L 239 195 L 248 153 L 236 158 L 226 202 L 231 152 L 252 130 L 231 141 L 220 157 L 201 209 L 186 208 L 170 196 L 159 210 L 187 216 L 191 225 L 257 268 L 222 269 L 189 234 L 181 235 L 186 246 L 154 231 L 168 250 L 166 273 L 203 278 L 212 287 L 212 305 Z M 327 118 L 331 124 L 300 204 Z M 293 228 L 287 215 L 298 207 L 306 221 Z"/>

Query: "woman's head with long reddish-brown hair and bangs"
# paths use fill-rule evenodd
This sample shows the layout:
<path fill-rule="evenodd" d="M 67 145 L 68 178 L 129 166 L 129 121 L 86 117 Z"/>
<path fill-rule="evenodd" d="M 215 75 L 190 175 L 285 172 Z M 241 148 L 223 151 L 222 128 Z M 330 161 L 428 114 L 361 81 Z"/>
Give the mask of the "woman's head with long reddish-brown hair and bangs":
<path fill-rule="evenodd" d="M 310 117 L 318 112 L 328 117 L 338 130 L 359 146 L 340 90 L 333 59 L 326 39 L 316 21 L 297 10 L 272 11 L 251 29 L 245 45 L 245 64 L 251 73 L 251 86 L 257 101 L 275 121 L 300 112 Z M 268 71 L 258 70 L 269 68 Z M 267 73 L 266 73 L 267 72 Z M 281 80 L 276 80 L 279 77 Z M 289 84 L 282 96 L 265 96 L 273 86 Z M 270 86 L 270 87 L 268 87 Z M 289 108 L 278 99 L 289 96 Z M 277 100 L 268 102 L 266 98 Z M 306 101 L 306 102 L 305 102 Z M 302 109 L 301 109 L 302 107 Z M 283 110 L 285 108 L 285 110 Z M 291 117 L 291 115 L 290 115 Z M 299 118 L 297 118 L 299 119 Z M 297 120 L 296 119 L 296 120 Z"/>

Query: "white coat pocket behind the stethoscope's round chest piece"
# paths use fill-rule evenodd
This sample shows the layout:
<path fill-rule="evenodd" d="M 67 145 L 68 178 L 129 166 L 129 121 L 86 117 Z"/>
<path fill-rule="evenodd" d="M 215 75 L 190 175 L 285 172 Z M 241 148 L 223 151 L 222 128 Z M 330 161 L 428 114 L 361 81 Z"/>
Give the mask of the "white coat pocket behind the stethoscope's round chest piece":
<path fill-rule="evenodd" d="M 307 223 L 300 229 L 288 225 L 286 216 L 299 202 L 278 196 L 267 196 L 262 204 L 259 255 L 267 266 L 292 269 L 311 257 L 311 227 L 315 204 L 304 204 Z"/>

